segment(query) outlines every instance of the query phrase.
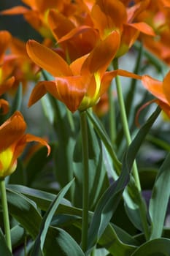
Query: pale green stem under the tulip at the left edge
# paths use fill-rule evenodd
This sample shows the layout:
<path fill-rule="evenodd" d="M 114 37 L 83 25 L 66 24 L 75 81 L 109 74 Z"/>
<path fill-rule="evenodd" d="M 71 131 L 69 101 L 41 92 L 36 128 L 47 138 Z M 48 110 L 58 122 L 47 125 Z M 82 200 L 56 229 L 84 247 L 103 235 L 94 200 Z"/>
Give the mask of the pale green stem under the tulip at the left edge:
<path fill-rule="evenodd" d="M 4 179 L 0 180 L 1 187 L 1 205 L 3 209 L 3 217 L 4 217 L 4 232 L 6 236 L 7 246 L 9 247 L 10 252 L 12 252 L 12 244 L 11 244 L 11 233 L 9 226 L 9 213 L 7 206 L 7 194 Z"/>

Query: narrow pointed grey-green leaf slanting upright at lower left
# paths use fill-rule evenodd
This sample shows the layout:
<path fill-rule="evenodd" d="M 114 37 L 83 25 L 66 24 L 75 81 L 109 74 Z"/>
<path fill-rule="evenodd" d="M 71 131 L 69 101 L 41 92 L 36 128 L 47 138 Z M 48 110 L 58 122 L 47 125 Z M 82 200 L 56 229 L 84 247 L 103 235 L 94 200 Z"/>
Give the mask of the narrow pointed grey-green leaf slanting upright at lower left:
<path fill-rule="evenodd" d="M 53 203 L 50 205 L 50 208 L 46 211 L 41 226 L 39 229 L 39 235 L 36 238 L 34 248 L 32 251 L 33 255 L 38 255 L 39 249 L 43 250 L 43 246 L 45 244 L 45 238 L 47 236 L 47 230 L 50 226 L 50 222 L 53 218 L 53 215 L 55 214 L 56 209 L 58 208 L 59 204 L 61 203 L 61 200 L 63 199 L 66 192 L 69 190 L 69 187 L 71 187 L 73 181 L 70 181 L 69 184 L 66 185 L 61 191 L 58 193 L 58 195 L 55 197 L 55 200 L 53 200 Z"/>

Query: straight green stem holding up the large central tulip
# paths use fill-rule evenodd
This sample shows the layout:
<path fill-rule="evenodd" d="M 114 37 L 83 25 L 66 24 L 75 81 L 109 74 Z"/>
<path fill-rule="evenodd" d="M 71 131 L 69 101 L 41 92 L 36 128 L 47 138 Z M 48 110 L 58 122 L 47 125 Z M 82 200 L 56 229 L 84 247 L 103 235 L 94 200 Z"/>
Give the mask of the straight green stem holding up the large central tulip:
<path fill-rule="evenodd" d="M 80 129 L 82 135 L 82 164 L 83 164 L 83 184 L 82 184 L 82 251 L 88 247 L 88 127 L 86 112 L 80 112 Z"/>

